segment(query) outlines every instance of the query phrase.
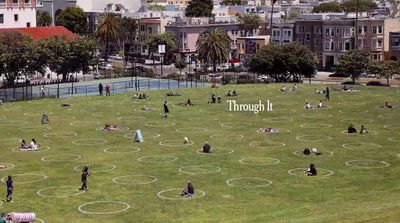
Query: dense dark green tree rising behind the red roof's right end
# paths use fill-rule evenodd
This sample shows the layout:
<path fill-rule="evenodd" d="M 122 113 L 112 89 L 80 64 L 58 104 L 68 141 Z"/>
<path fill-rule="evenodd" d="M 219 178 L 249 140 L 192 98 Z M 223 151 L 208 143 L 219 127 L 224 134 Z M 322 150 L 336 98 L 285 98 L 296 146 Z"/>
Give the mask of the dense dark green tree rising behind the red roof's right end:
<path fill-rule="evenodd" d="M 56 24 L 73 33 L 84 34 L 87 31 L 87 16 L 82 8 L 67 7 L 58 15 Z"/>

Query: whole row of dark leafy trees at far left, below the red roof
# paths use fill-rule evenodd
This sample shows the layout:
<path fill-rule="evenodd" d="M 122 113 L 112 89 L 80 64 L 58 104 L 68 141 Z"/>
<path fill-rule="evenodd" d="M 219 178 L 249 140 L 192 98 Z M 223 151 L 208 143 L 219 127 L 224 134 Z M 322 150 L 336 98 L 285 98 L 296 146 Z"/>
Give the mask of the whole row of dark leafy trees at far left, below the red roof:
<path fill-rule="evenodd" d="M 45 75 L 46 68 L 61 74 L 66 80 L 68 74 L 88 72 L 89 66 L 97 63 L 97 48 L 97 43 L 86 37 L 74 40 L 53 37 L 33 41 L 20 32 L 2 32 L 0 74 L 4 75 L 8 86 L 13 86 L 18 76 Z"/>

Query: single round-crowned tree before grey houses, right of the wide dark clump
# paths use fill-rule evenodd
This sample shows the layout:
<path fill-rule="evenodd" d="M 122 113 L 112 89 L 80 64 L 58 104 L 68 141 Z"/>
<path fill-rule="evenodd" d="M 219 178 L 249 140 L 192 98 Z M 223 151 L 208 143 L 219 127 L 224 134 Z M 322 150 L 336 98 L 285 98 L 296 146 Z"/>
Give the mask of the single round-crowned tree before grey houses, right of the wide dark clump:
<path fill-rule="evenodd" d="M 349 74 L 353 83 L 362 73 L 367 71 L 369 53 L 361 50 L 350 50 L 339 57 L 339 64 L 336 70 L 341 73 Z"/>

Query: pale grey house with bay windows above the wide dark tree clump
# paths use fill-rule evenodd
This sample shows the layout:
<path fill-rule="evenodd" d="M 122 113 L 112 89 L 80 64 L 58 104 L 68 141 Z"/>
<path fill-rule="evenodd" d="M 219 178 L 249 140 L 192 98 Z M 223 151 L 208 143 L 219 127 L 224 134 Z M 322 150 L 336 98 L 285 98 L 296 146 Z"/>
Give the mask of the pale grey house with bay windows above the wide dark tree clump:
<path fill-rule="evenodd" d="M 277 44 L 287 44 L 293 42 L 294 23 L 273 23 L 271 41 Z"/>

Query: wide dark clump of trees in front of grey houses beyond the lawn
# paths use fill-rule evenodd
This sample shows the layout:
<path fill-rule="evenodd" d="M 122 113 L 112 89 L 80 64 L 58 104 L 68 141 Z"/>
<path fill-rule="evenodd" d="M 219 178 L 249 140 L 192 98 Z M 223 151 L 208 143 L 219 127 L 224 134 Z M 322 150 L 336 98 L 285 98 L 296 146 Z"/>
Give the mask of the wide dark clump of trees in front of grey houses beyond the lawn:
<path fill-rule="evenodd" d="M 318 60 L 306 46 L 299 43 L 285 45 L 270 44 L 252 56 L 250 71 L 269 75 L 276 82 L 295 81 L 314 76 Z"/>

